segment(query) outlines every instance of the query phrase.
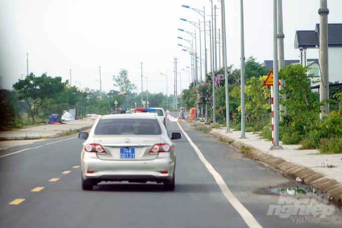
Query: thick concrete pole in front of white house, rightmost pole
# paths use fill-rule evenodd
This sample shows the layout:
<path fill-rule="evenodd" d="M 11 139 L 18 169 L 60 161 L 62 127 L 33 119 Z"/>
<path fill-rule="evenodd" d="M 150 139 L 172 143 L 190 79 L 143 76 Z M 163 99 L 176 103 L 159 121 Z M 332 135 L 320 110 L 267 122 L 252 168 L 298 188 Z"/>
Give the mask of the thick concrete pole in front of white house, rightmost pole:
<path fill-rule="evenodd" d="M 320 0 L 319 14 L 319 64 L 320 79 L 319 82 L 319 101 L 324 101 L 319 115 L 320 119 L 329 114 L 329 71 L 328 71 L 328 14 L 327 0 Z"/>

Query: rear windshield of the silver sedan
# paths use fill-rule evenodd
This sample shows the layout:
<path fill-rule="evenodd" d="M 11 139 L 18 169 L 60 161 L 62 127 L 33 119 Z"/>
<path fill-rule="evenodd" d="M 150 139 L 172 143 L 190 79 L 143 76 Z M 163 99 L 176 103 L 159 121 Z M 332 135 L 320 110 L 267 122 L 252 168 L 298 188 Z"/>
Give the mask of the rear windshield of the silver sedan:
<path fill-rule="evenodd" d="M 95 135 L 160 135 L 157 120 L 150 119 L 111 119 L 100 120 Z"/>

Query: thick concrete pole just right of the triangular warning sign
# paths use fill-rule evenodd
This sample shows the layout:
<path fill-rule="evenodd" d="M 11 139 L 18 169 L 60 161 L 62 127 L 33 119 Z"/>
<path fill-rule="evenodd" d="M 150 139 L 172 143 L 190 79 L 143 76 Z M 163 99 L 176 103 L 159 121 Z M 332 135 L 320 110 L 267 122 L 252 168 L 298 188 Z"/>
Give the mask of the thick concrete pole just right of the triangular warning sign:
<path fill-rule="evenodd" d="M 277 10 L 278 10 L 278 58 L 279 58 L 279 70 L 285 66 L 285 57 L 284 57 L 284 30 L 283 30 L 283 3 L 282 0 L 278 0 L 277 4 Z M 282 89 L 285 85 L 285 80 L 280 80 L 280 86 L 279 89 Z M 273 85 L 275 86 L 275 85 Z M 283 101 L 286 100 L 286 95 L 282 94 Z M 280 105 L 279 109 L 283 112 L 281 112 L 280 120 L 284 115 L 286 115 L 286 106 Z"/>

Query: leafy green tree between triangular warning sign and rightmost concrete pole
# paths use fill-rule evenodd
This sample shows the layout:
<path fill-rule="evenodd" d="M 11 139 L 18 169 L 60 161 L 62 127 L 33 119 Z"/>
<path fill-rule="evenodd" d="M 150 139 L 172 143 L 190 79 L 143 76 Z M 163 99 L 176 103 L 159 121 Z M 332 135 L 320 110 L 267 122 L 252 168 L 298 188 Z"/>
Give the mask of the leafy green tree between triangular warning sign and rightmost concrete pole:
<path fill-rule="evenodd" d="M 286 95 L 285 101 L 279 96 L 279 104 L 286 105 L 287 112 L 280 122 L 285 144 L 296 144 L 305 139 L 319 120 L 321 103 L 317 93 L 311 90 L 309 78 L 313 77 L 306 75 L 308 70 L 301 64 L 291 64 L 279 71 L 279 79 L 286 81 L 283 89 L 279 90 L 280 95 Z"/>

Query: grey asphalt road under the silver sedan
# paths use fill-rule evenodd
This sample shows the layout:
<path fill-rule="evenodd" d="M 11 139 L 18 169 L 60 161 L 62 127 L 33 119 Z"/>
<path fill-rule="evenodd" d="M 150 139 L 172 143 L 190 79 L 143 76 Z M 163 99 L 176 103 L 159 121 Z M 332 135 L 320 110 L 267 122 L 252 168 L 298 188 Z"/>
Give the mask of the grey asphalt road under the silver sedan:
<path fill-rule="evenodd" d="M 166 127 L 169 133 L 182 133 L 175 141 L 173 192 L 163 191 L 162 184 L 128 182 L 101 182 L 93 191 L 82 191 L 83 141 L 76 135 L 37 142 L 30 146 L 35 149 L 0 157 L 0 227 L 341 226 L 337 209 L 319 221 L 267 215 L 279 200 L 267 189 L 295 186 L 293 180 L 190 123 L 166 122 Z M 23 149 L 27 148 L 12 148 L 11 153 Z"/>

